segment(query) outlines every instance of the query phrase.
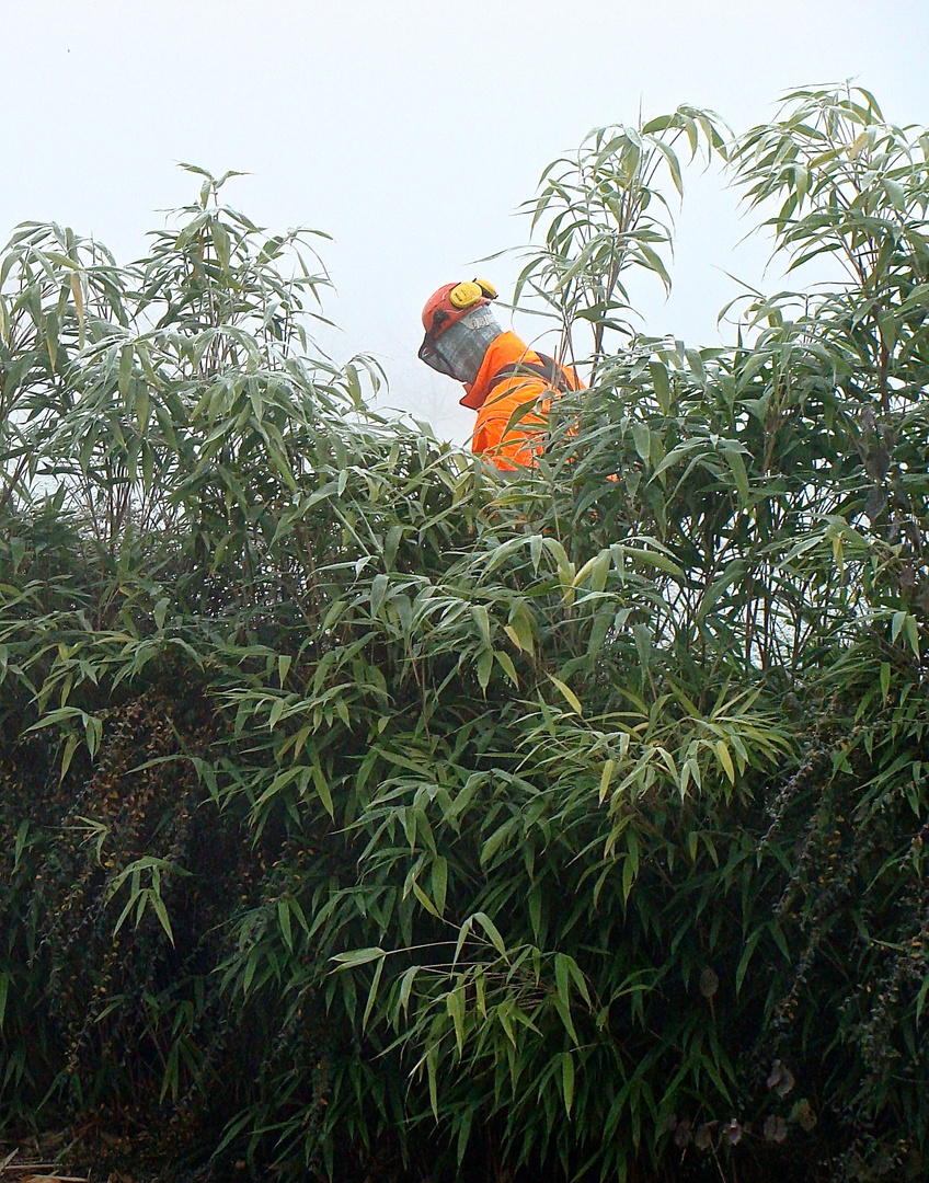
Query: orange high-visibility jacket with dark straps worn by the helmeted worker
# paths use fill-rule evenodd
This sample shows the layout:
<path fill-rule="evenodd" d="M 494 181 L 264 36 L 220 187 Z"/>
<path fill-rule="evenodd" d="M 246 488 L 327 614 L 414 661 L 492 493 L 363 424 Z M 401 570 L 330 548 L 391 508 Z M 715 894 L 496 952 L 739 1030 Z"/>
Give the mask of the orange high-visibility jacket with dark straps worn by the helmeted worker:
<path fill-rule="evenodd" d="M 477 409 L 471 450 L 492 460 L 498 468 L 533 465 L 544 447 L 547 412 L 554 393 L 551 384 L 531 373 L 508 374 L 495 382 L 501 370 L 520 362 L 540 364 L 540 356 L 514 332 L 501 334 L 490 343 L 477 377 L 462 400 L 465 406 Z M 565 377 L 573 390 L 581 389 L 580 379 L 568 366 Z M 533 403 L 536 406 L 508 431 L 514 414 Z"/>

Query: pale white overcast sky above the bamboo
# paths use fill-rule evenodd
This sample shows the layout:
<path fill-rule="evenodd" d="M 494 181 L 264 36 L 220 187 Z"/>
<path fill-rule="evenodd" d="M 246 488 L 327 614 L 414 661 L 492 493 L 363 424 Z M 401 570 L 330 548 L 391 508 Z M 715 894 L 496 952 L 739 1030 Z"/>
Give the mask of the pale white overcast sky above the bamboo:
<path fill-rule="evenodd" d="M 179 161 L 247 170 L 230 203 L 335 238 L 330 351 L 375 354 L 386 402 L 458 441 L 473 416 L 415 358 L 422 303 L 476 271 L 507 291 L 516 260 L 473 260 L 524 240 L 514 211 L 592 127 L 686 102 L 742 131 L 786 90 L 845 78 L 929 124 L 929 0 L 0 0 L 0 237 L 56 220 L 128 261 L 155 211 L 194 196 Z M 649 331 L 718 343 L 723 272 L 759 282 L 765 252 L 734 251 L 731 192 L 696 169 L 685 185 L 673 295 L 646 283 L 641 309 Z"/>

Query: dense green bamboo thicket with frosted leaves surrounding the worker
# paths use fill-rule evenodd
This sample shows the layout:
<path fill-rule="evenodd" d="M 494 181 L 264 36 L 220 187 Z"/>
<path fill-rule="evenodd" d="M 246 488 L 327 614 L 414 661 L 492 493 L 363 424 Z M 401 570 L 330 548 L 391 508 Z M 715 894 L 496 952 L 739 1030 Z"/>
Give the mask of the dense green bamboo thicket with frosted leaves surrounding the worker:
<path fill-rule="evenodd" d="M 221 181 L 131 267 L 17 233 L 12 1127 L 141 1111 L 293 1177 L 920 1176 L 927 141 L 845 92 L 720 129 L 547 170 L 521 285 L 595 381 L 515 476 L 366 407 L 305 239 Z M 680 137 L 851 272 L 613 353 Z"/>

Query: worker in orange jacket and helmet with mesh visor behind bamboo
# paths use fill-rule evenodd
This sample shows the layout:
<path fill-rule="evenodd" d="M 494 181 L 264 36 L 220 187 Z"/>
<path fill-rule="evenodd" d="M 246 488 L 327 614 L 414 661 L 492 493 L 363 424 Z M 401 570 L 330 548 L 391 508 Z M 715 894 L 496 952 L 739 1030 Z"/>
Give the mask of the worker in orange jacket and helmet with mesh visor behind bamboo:
<path fill-rule="evenodd" d="M 569 367 L 530 349 L 493 318 L 497 292 L 485 279 L 445 284 L 422 309 L 420 358 L 462 382 L 463 407 L 477 412 L 472 451 L 498 468 L 535 464 L 546 445 L 555 392 L 581 389 Z"/>

